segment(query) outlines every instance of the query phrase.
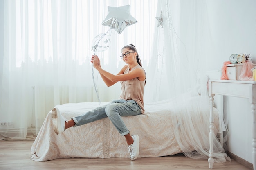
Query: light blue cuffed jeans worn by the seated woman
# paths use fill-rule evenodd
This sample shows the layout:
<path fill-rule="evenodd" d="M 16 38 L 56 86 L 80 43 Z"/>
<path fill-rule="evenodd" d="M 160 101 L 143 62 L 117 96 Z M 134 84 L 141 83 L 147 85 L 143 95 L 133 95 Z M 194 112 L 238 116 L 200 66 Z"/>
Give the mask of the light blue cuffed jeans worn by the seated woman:
<path fill-rule="evenodd" d="M 81 126 L 108 117 L 121 135 L 127 135 L 130 132 L 126 128 L 121 116 L 135 116 L 139 114 L 141 114 L 141 107 L 135 100 L 117 99 L 72 119 L 75 122 L 75 126 Z"/>

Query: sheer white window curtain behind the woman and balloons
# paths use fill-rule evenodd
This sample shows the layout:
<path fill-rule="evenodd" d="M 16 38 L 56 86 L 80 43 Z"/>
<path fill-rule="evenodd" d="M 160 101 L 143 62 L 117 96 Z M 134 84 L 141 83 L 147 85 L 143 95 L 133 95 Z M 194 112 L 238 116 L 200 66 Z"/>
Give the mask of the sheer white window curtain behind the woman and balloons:
<path fill-rule="evenodd" d="M 96 53 L 102 67 L 117 74 L 121 48 L 137 47 L 148 70 L 157 1 L 3 0 L 0 2 L 0 139 L 36 135 L 57 104 L 98 102 L 92 81 L 91 43 L 110 27 L 101 22 L 108 6 L 130 5 L 138 21 L 119 35 L 111 30 L 108 50 Z M 119 83 L 106 87 L 96 71 L 101 102 L 118 98 Z M 118 90 L 120 89 L 120 91 Z"/>

